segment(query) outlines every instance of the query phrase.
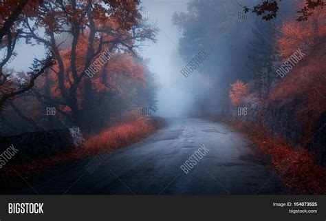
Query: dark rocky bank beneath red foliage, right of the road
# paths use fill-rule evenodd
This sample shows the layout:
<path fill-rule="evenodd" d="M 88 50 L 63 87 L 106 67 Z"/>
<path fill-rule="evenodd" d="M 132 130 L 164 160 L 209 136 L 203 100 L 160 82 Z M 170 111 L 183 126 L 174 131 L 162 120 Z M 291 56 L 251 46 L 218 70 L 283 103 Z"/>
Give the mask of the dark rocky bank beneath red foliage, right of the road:
<path fill-rule="evenodd" d="M 301 120 L 298 120 L 297 114 L 302 104 L 303 97 L 300 94 L 286 100 L 271 101 L 264 107 L 256 101 L 242 101 L 239 106 L 247 107 L 248 114 L 239 115 L 237 109 L 231 109 L 230 115 L 264 128 L 274 138 L 284 138 L 292 147 L 309 147 L 318 164 L 326 167 L 326 112 L 316 120 L 312 137 L 307 137 L 307 128 Z"/>

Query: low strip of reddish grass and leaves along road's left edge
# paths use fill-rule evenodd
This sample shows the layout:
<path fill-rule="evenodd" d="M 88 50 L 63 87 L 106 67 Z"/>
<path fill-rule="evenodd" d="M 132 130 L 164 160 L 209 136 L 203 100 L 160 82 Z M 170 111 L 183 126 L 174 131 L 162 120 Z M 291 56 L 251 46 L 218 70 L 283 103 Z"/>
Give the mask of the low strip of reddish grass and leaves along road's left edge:
<path fill-rule="evenodd" d="M 127 147 L 150 136 L 161 127 L 163 127 L 163 123 L 160 118 L 140 116 L 129 123 L 115 125 L 88 138 L 83 149 L 59 152 L 50 158 L 38 158 L 28 163 L 6 165 L 1 169 L 0 182 L 5 185 L 4 188 L 12 187 L 13 183 L 23 182 L 17 173 L 28 180 L 55 166 Z"/>

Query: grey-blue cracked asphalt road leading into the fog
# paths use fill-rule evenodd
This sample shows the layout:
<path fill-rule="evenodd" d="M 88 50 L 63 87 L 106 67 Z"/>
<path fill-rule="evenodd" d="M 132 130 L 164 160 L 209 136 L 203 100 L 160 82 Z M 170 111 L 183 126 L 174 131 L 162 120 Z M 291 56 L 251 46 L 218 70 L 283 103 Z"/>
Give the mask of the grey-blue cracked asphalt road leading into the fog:
<path fill-rule="evenodd" d="M 180 166 L 209 149 L 188 173 Z M 47 172 L 28 194 L 286 194 L 274 172 L 237 131 L 197 118 L 168 118 L 166 127 L 130 147 L 104 154 L 93 173 L 85 158 Z M 93 158 L 94 159 L 94 158 Z"/>

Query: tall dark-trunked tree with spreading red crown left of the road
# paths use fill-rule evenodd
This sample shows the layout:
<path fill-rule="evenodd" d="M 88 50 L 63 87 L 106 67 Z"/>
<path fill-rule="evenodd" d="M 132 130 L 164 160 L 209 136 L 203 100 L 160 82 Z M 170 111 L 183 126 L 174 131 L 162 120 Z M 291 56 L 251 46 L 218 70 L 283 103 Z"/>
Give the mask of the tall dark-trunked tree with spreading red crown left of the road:
<path fill-rule="evenodd" d="M 91 104 L 92 82 L 89 68 L 105 50 L 128 51 L 146 39 L 154 40 L 155 28 L 143 23 L 138 1 L 47 1 L 38 13 L 24 19 L 23 32 L 52 50 L 56 65 L 52 68 L 56 97 L 42 95 L 46 103 L 72 116 L 74 125 L 85 126 L 83 107 Z M 48 16 L 51 14 L 51 16 Z M 44 36 L 39 34 L 44 29 Z M 60 40 L 59 40 L 60 39 Z M 63 40 L 61 40 L 63 39 Z M 83 97 L 78 97 L 83 92 Z"/>

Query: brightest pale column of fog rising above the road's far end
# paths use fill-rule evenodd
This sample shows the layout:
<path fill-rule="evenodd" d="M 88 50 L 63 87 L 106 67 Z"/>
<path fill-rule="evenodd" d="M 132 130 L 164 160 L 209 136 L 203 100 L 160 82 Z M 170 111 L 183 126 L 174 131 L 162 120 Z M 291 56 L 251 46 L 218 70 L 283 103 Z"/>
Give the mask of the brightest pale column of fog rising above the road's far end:
<path fill-rule="evenodd" d="M 186 82 L 180 70 L 185 65 L 177 52 L 180 34 L 172 23 L 175 12 L 186 11 L 188 1 L 142 1 L 143 13 L 149 23 L 155 23 L 160 32 L 156 43 L 147 43 L 141 52 L 150 59 L 149 69 L 159 85 L 157 91 L 157 115 L 185 116 L 193 102 L 185 90 Z"/>

